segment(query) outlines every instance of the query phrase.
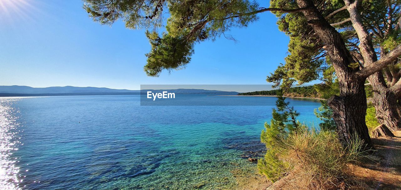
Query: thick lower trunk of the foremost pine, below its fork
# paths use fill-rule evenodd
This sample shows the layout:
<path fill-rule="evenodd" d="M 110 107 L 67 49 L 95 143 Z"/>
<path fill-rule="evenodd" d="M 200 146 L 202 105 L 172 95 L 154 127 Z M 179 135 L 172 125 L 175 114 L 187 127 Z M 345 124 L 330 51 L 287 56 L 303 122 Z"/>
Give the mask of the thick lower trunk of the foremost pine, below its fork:
<path fill-rule="evenodd" d="M 372 143 L 365 121 L 367 102 L 364 81 L 345 82 L 346 84 L 340 85 L 340 97 L 332 96 L 327 101 L 333 109 L 338 136 L 344 147 L 358 136 L 369 150 L 372 148 Z"/>

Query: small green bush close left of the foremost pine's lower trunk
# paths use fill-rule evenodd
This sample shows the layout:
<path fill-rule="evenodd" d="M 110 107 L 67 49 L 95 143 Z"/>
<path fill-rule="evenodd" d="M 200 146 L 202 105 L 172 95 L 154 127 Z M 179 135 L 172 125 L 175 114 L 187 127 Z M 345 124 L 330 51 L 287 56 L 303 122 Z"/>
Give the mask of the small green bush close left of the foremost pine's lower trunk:
<path fill-rule="evenodd" d="M 333 115 L 333 110 L 327 105 L 326 101 L 321 102 L 322 106 L 314 110 L 316 117 L 322 120 L 322 123 L 319 123 L 319 127 L 322 131 L 335 131 L 336 123 L 331 117 L 331 115 Z"/>

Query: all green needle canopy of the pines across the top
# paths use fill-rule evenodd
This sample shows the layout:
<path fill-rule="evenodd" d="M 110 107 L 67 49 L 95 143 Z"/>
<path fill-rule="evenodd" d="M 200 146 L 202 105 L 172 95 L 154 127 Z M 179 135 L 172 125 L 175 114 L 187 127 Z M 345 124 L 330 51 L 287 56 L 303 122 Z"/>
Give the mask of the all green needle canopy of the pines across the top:
<path fill-rule="evenodd" d="M 262 12 L 259 4 L 251 0 L 83 0 L 83 8 L 89 17 L 101 24 L 113 24 L 117 20 L 125 22 L 127 28 L 158 31 L 166 23 L 166 34 L 159 34 L 162 43 L 152 44 L 148 56 L 148 65 L 145 71 L 150 76 L 158 76 L 162 70 L 182 69 L 190 61 L 195 42 L 207 39 L 215 40 L 233 27 L 246 27 L 258 20 L 257 14 Z M 315 2 L 317 8 L 327 16 L 334 10 L 344 6 L 342 0 L 328 0 Z M 400 0 L 363 0 L 362 10 L 364 24 L 369 32 L 373 32 L 373 44 L 382 46 L 385 51 L 392 49 L 401 42 L 400 29 L 395 28 L 398 18 Z M 389 5 L 395 5 L 389 9 Z M 294 0 L 271 0 L 271 8 L 296 9 L 299 8 Z M 391 13 L 388 10 L 392 10 Z M 290 37 L 288 56 L 285 65 L 280 65 L 274 73 L 267 77 L 267 81 L 274 82 L 282 88 L 318 79 L 322 70 L 330 61 L 327 60 L 324 44 L 306 23 L 301 12 L 283 13 L 273 12 L 278 17 L 279 30 Z M 377 23 L 386 23 L 389 15 L 392 17 L 392 29 Z M 394 15 L 397 14 L 397 15 Z M 345 10 L 327 18 L 330 23 L 339 22 L 348 18 Z M 386 25 L 386 24 L 384 24 Z M 386 30 L 385 35 L 378 35 L 376 27 Z M 336 26 L 350 51 L 358 51 L 355 46 L 358 38 L 350 22 Z M 394 28 L 394 29 L 393 29 Z M 228 35 L 227 35 L 228 36 Z M 226 37 L 227 37 L 226 36 Z M 166 39 L 164 39 L 166 38 Z M 232 37 L 227 37 L 231 38 Z M 154 38 L 149 38 L 152 43 Z M 160 48 L 155 46 L 160 45 Z M 161 51 L 159 49 L 162 49 Z M 177 53 L 174 51 L 183 51 Z M 166 58 L 172 55 L 172 57 Z M 155 58 L 153 58 L 155 57 Z M 350 65 L 357 69 L 356 65 Z"/>

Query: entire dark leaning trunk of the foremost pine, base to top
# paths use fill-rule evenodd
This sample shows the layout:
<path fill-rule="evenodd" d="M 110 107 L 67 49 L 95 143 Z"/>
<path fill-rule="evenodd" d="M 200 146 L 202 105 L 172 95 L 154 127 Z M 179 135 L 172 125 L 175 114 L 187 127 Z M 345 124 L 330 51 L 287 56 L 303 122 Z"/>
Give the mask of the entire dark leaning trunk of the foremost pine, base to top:
<path fill-rule="evenodd" d="M 364 141 L 365 147 L 371 149 L 371 138 L 365 123 L 367 102 L 364 84 L 367 76 L 356 75 L 358 69 L 348 67 L 354 61 L 344 40 L 313 2 L 311 0 L 296 0 L 296 2 L 301 8 L 310 7 L 302 13 L 326 45 L 326 51 L 338 77 L 340 97 L 333 96 L 328 100 L 328 105 L 334 111 L 333 119 L 342 145 L 348 146 L 349 142 L 358 136 Z"/>

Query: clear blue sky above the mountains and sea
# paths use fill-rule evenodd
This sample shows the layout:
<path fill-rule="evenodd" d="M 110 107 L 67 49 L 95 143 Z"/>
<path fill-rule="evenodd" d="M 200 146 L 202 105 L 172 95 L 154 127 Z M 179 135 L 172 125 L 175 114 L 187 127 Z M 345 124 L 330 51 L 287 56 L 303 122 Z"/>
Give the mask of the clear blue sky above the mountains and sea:
<path fill-rule="evenodd" d="M 0 85 L 139 89 L 145 84 L 267 84 L 287 55 L 288 36 L 270 12 L 247 28 L 196 44 L 186 69 L 143 71 L 144 30 L 95 23 L 80 0 L 0 0 Z M 267 7 L 268 4 L 261 4 Z"/>

